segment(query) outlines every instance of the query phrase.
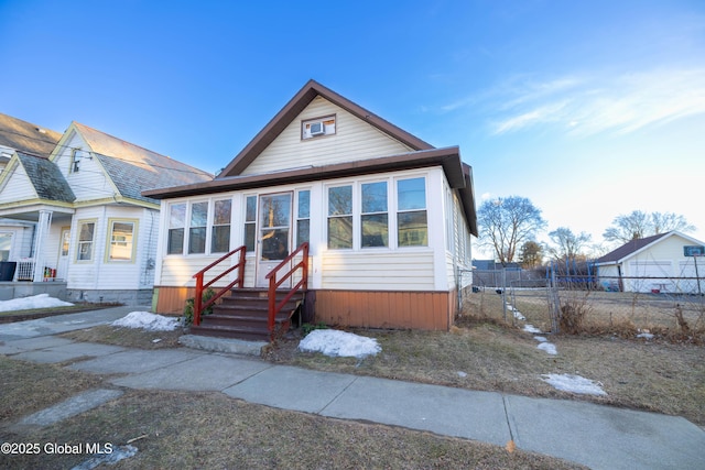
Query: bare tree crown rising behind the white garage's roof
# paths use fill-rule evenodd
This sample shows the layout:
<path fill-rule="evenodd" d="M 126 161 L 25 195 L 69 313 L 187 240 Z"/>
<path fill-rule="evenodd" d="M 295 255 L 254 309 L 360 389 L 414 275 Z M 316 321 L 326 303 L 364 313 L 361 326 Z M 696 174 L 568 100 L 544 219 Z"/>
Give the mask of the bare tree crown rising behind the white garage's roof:
<path fill-rule="evenodd" d="M 631 214 L 619 215 L 612 225 L 605 230 L 603 237 L 608 241 L 627 243 L 630 240 L 651 237 L 659 233 L 677 230 L 691 232 L 695 227 L 685 217 L 673 212 L 643 212 L 633 210 Z"/>

